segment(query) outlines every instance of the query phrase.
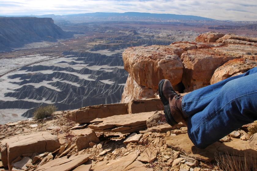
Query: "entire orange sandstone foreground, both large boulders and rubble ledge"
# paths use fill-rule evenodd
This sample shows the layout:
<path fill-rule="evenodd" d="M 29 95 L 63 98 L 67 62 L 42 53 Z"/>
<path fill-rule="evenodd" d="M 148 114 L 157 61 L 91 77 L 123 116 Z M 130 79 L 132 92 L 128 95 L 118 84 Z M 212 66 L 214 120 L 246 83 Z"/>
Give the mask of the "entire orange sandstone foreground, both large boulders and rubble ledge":
<path fill-rule="evenodd" d="M 196 148 L 181 123 L 169 126 L 157 85 L 169 79 L 190 92 L 257 66 L 257 39 L 209 32 L 195 42 L 131 47 L 122 55 L 129 76 L 122 103 L 58 111 L 39 121 L 1 126 L 2 168 L 26 171 L 212 171 L 215 154 L 256 162 L 257 133 L 249 124 L 206 149 Z M 156 98 L 155 98 L 156 97 Z M 151 98 L 151 99 L 149 99 Z"/>

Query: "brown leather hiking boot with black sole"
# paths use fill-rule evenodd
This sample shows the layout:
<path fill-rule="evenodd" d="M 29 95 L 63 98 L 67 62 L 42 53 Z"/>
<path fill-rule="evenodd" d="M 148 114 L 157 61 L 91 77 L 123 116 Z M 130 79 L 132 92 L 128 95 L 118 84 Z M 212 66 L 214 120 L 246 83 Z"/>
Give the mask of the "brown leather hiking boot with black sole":
<path fill-rule="evenodd" d="M 178 122 L 182 122 L 187 126 L 187 116 L 182 110 L 182 96 L 178 95 L 169 82 L 169 80 L 163 79 L 159 82 L 159 96 L 164 105 L 164 114 L 169 125 L 176 125 Z"/>

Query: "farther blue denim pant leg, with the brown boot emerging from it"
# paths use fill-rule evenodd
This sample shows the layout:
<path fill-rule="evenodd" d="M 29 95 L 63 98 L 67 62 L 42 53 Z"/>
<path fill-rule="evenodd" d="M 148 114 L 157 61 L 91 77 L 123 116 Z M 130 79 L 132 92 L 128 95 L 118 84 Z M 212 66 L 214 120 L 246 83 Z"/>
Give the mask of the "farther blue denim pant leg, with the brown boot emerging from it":
<path fill-rule="evenodd" d="M 212 100 L 216 98 L 223 85 L 225 85 L 227 82 L 254 73 L 257 73 L 257 67 L 252 68 L 244 74 L 227 78 L 215 84 L 208 85 L 206 87 L 194 90 L 191 93 L 186 94 L 182 98 L 182 109 L 184 114 L 190 117 L 202 111 Z"/>

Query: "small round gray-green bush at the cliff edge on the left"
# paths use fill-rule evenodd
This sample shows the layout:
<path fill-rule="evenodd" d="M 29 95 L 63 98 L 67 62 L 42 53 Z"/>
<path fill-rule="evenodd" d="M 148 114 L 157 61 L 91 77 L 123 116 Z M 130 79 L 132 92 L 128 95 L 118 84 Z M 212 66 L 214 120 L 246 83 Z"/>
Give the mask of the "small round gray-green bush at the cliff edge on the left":
<path fill-rule="evenodd" d="M 52 115 L 57 110 L 57 107 L 54 105 L 48 105 L 48 106 L 40 106 L 38 107 L 35 112 L 33 113 L 33 116 L 36 120 L 47 118 Z"/>

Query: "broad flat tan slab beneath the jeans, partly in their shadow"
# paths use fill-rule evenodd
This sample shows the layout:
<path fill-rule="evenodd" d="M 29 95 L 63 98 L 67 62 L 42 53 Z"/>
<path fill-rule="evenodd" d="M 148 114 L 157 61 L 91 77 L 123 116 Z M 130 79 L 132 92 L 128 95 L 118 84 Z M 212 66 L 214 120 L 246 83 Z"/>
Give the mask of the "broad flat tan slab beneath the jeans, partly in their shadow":
<path fill-rule="evenodd" d="M 224 154 L 224 152 L 228 152 L 229 154 L 239 154 L 244 152 L 244 150 L 251 150 L 248 141 L 237 138 L 232 138 L 232 141 L 225 143 L 215 142 L 205 149 L 200 149 L 194 146 L 192 141 L 189 139 L 188 134 L 166 136 L 165 140 L 166 144 L 174 150 L 181 151 L 188 157 L 206 162 L 214 160 L 215 153 Z M 255 152 L 257 153 L 257 151 Z"/>

